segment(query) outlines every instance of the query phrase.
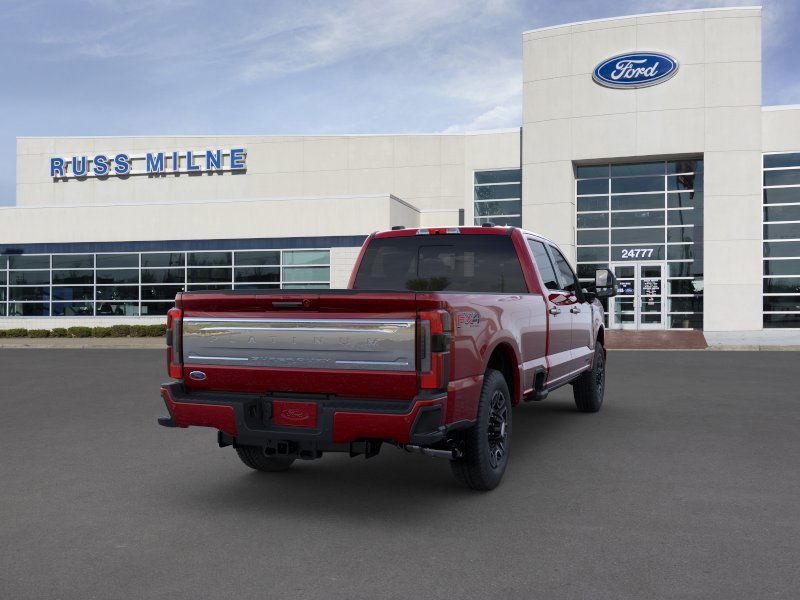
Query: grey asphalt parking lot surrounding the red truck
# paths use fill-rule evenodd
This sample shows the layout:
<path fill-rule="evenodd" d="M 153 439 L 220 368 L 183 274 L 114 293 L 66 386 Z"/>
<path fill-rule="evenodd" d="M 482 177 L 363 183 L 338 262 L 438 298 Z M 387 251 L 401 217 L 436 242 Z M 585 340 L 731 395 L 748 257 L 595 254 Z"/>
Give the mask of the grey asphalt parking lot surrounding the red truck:
<path fill-rule="evenodd" d="M 796 598 L 794 352 L 612 352 L 494 492 L 385 448 L 287 473 L 158 427 L 163 353 L 0 350 L 4 598 Z"/>

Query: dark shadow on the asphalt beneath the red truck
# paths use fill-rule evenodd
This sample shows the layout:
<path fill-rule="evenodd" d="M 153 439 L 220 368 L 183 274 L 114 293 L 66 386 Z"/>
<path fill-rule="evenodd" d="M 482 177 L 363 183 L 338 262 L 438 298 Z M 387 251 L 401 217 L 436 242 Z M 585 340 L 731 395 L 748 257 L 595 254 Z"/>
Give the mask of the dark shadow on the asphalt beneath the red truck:
<path fill-rule="evenodd" d="M 460 486 L 446 460 L 410 455 L 385 445 L 379 456 L 369 460 L 329 454 L 321 460 L 297 461 L 285 473 L 230 469 L 226 476 L 214 478 L 214 485 L 176 489 L 182 496 L 191 495 L 176 501 L 191 502 L 204 512 L 260 513 L 269 518 L 419 520 L 421 507 L 424 519 L 436 518 L 460 503 L 496 502 L 497 495 L 524 485 L 515 481 L 515 475 L 536 472 L 538 449 L 569 444 L 570 429 L 581 417 L 566 396 L 516 408 L 509 471 L 491 494 Z"/>

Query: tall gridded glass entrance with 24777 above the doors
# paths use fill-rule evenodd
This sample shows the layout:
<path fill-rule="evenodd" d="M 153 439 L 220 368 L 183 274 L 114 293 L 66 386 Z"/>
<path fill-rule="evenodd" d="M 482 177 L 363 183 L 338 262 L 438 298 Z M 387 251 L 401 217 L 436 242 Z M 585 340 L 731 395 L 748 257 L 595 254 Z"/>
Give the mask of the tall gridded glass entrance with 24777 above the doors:
<path fill-rule="evenodd" d="M 655 264 L 664 302 L 645 295 L 617 316 L 635 328 L 702 328 L 702 159 L 579 165 L 575 175 L 578 277 L 589 282 L 609 263 L 620 271 L 639 264 L 632 272 L 640 274 Z"/>

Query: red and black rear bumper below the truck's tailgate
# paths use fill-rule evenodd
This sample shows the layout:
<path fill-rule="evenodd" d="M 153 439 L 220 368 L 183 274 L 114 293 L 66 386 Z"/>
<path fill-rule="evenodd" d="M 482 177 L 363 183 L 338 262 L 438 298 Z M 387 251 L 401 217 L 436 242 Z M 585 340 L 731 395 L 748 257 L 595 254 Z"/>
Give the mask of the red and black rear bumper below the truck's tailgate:
<path fill-rule="evenodd" d="M 442 423 L 447 405 L 445 393 L 418 396 L 411 401 L 315 394 L 189 394 L 181 382 L 174 382 L 162 385 L 161 396 L 169 417 L 161 417 L 159 424 L 213 427 L 221 432 L 221 443 L 241 445 L 294 442 L 316 450 L 348 451 L 352 442 L 382 440 L 427 446 L 441 441 L 448 431 L 469 425 Z M 273 407 L 294 405 L 308 409 L 315 418 L 300 420 L 303 426 L 276 424 L 285 423 L 285 419 L 273 414 Z"/>

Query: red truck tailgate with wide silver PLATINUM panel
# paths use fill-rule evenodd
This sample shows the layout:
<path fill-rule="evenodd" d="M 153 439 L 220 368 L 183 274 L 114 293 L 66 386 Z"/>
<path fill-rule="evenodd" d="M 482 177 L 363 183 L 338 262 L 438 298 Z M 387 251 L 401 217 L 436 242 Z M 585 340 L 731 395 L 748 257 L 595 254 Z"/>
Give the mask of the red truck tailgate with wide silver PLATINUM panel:
<path fill-rule="evenodd" d="M 190 389 L 409 399 L 417 393 L 413 293 L 181 294 Z M 204 379 L 189 373 L 202 371 Z"/>

